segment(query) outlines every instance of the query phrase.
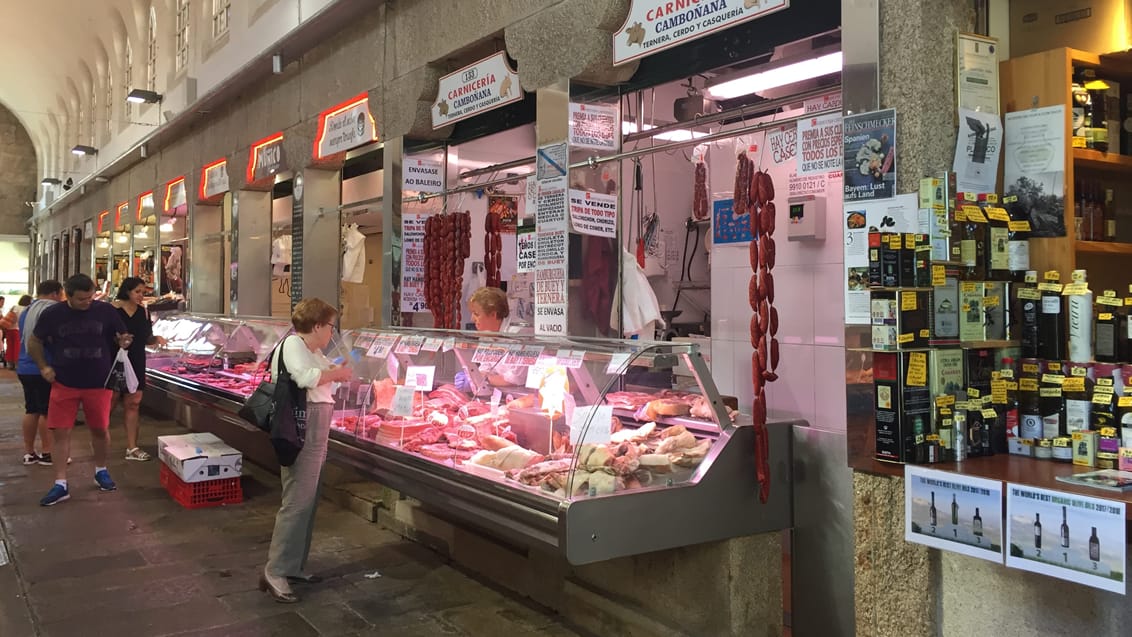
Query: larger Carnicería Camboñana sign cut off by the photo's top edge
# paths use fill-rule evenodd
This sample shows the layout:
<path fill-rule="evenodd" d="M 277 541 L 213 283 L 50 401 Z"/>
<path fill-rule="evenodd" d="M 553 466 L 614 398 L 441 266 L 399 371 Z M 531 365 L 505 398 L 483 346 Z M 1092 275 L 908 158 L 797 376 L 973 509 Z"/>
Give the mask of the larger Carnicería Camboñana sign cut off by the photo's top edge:
<path fill-rule="evenodd" d="M 614 64 L 651 55 L 789 6 L 790 0 L 633 0 L 625 24 L 614 34 Z"/>

